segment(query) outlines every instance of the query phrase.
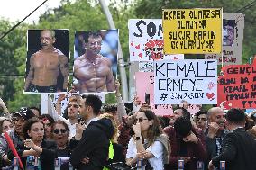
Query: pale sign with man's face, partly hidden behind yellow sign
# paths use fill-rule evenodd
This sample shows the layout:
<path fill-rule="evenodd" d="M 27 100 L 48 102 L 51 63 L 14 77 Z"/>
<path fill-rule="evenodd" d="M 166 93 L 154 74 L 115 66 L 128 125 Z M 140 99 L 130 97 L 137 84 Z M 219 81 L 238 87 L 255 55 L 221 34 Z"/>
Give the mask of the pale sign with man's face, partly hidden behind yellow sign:
<path fill-rule="evenodd" d="M 242 39 L 244 14 L 224 13 L 223 19 L 223 52 L 222 54 L 206 54 L 206 59 L 217 59 L 218 65 L 242 64 Z"/>

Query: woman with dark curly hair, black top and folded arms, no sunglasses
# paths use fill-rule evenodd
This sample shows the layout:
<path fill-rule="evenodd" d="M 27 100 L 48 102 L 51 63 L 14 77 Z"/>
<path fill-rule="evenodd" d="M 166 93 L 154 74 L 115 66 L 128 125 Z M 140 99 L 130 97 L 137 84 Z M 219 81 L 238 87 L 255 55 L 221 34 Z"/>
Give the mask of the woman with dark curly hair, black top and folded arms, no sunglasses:
<path fill-rule="evenodd" d="M 54 160 L 56 157 L 56 143 L 44 139 L 43 123 L 38 118 L 32 118 L 23 125 L 24 142 L 19 143 L 17 152 L 26 166 L 26 158 L 34 156 L 39 158 L 41 170 L 54 170 Z M 14 155 L 9 152 L 8 158 L 13 160 Z"/>

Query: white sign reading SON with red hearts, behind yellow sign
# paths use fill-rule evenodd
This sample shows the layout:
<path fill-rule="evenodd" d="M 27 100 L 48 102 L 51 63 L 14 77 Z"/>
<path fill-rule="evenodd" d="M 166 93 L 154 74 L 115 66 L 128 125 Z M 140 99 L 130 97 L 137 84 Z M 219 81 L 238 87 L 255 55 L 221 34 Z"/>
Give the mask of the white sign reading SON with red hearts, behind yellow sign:
<path fill-rule="evenodd" d="M 163 54 L 161 19 L 132 19 L 128 22 L 128 28 L 130 61 L 169 58 L 169 55 Z"/>

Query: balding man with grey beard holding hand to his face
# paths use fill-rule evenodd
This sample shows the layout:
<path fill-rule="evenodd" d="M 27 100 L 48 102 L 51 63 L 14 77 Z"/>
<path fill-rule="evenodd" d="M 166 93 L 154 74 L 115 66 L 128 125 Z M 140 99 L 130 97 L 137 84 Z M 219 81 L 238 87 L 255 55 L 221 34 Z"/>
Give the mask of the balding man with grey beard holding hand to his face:
<path fill-rule="evenodd" d="M 208 160 L 220 155 L 226 130 L 225 114 L 220 107 L 213 107 L 207 112 L 208 128 L 206 129 L 206 148 Z"/>

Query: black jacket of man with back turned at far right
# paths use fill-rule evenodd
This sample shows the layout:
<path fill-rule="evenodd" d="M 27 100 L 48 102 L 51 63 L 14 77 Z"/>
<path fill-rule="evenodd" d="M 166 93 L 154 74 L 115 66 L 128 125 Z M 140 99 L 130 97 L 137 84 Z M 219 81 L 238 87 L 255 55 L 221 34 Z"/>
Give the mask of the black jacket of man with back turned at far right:
<path fill-rule="evenodd" d="M 213 158 L 215 167 L 226 161 L 226 170 L 256 170 L 256 141 L 244 128 L 233 130 L 224 137 L 222 153 Z"/>

